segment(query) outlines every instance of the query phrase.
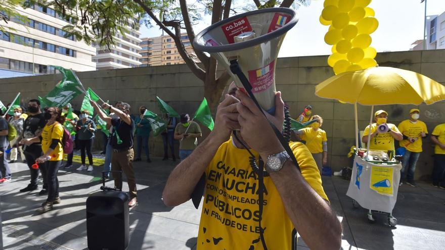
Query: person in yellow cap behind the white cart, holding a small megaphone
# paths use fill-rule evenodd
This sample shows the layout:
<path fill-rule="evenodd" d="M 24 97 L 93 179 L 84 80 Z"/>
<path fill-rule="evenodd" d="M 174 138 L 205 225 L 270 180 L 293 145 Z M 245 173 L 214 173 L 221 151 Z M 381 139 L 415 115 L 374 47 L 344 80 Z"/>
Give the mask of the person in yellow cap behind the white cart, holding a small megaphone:
<path fill-rule="evenodd" d="M 387 123 L 388 113 L 384 110 L 379 110 L 374 114 L 375 123 L 371 125 L 371 141 L 369 145 L 370 150 L 381 151 L 395 151 L 394 139 L 402 140 L 403 135 L 398 131 L 397 127 L 392 123 Z M 381 132 L 377 128 L 380 125 L 386 124 L 388 131 Z M 366 126 L 363 133 L 362 141 L 368 143 L 369 125 Z"/>

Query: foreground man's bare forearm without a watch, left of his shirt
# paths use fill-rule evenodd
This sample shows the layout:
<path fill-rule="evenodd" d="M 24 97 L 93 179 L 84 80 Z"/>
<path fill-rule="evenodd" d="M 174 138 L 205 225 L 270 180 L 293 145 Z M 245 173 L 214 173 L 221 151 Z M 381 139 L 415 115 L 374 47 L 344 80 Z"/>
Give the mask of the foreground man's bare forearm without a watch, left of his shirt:
<path fill-rule="evenodd" d="M 220 140 L 212 133 L 171 172 L 162 192 L 164 204 L 177 206 L 190 199 L 196 184 L 215 155 Z"/>

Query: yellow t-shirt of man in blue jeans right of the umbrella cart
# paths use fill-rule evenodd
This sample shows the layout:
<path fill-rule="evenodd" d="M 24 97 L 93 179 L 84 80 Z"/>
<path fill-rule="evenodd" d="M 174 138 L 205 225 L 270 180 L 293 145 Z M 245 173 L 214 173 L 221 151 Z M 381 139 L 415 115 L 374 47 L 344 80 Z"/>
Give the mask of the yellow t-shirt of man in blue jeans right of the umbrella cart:
<path fill-rule="evenodd" d="M 418 137 L 418 139 L 411 143 L 410 140 L 401 140 L 399 142 L 400 146 L 406 147 L 408 151 L 414 153 L 422 152 L 422 137 L 420 136 L 421 132 L 425 134 L 428 133 L 426 128 L 426 124 L 422 121 L 417 121 L 416 123 L 412 123 L 410 120 L 405 120 L 398 125 L 398 130 L 405 136 L 408 137 Z"/>

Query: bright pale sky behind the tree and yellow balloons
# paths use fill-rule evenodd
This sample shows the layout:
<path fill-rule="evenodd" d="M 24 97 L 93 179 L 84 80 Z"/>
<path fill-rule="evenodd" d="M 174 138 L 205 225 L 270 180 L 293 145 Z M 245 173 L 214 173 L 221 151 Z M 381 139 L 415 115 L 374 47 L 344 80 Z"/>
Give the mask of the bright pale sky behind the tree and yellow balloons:
<path fill-rule="evenodd" d="M 242 0 L 238 0 L 240 2 Z M 329 26 L 323 26 L 319 17 L 323 0 L 313 0 L 309 7 L 300 7 L 299 21 L 286 35 L 278 57 L 330 55 L 331 45 L 324 41 Z M 411 44 L 422 39 L 425 3 L 420 0 L 373 0 L 368 6 L 374 9 L 379 27 L 371 34 L 371 46 L 377 52 L 408 51 Z M 445 0 L 427 0 L 427 16 L 445 12 Z M 210 25 L 209 17 L 194 27 L 195 34 Z M 158 27 L 141 28 L 141 37 L 162 33 Z M 184 31 L 185 32 L 185 31 Z"/>

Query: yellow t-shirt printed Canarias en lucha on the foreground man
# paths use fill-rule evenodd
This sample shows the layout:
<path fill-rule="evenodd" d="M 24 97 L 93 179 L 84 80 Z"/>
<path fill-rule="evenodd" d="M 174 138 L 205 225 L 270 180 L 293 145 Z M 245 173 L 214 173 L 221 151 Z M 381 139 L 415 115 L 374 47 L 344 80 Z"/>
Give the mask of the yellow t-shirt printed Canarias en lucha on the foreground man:
<path fill-rule="evenodd" d="M 328 200 L 317 165 L 300 142 L 290 147 L 307 183 Z M 258 153 L 251 150 L 258 158 Z M 197 249 L 262 249 L 258 228 L 258 180 L 246 149 L 232 138 L 219 146 L 207 167 L 205 194 Z M 269 249 L 290 250 L 296 245 L 296 230 L 287 216 L 280 194 L 270 177 L 264 177 L 261 227 Z"/>

